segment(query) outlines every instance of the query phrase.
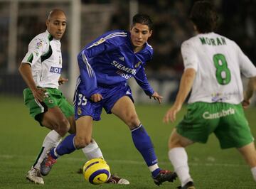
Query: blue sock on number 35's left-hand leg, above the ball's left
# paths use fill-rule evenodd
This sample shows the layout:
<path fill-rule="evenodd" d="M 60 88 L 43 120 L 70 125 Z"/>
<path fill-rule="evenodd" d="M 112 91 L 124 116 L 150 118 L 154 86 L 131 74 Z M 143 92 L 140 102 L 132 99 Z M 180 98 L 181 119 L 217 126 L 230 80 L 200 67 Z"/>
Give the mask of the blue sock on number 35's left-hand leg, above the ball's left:
<path fill-rule="evenodd" d="M 50 150 L 50 156 L 57 159 L 58 156 L 63 156 L 64 154 L 72 153 L 73 151 L 75 151 L 76 148 L 74 144 L 74 137 L 75 134 L 70 134 L 66 136 L 65 139 L 63 139 L 63 141 L 58 146 Z M 55 152 L 57 154 L 55 154 Z"/>

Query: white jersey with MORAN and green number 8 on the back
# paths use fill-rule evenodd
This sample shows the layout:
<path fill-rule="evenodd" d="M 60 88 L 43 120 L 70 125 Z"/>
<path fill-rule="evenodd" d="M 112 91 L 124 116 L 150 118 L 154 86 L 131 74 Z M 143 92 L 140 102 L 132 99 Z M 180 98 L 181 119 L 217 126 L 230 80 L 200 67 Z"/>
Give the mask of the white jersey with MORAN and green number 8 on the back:
<path fill-rule="evenodd" d="M 193 102 L 239 104 L 243 99 L 241 73 L 255 77 L 255 65 L 239 46 L 217 33 L 201 33 L 184 41 L 181 53 L 185 70 L 196 70 L 191 97 Z"/>

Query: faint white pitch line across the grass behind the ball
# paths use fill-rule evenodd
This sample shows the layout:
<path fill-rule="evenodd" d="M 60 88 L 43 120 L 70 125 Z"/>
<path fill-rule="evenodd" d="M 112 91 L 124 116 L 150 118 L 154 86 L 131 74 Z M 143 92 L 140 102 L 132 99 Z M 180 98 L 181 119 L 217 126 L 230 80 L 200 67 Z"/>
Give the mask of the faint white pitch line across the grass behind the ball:
<path fill-rule="evenodd" d="M 0 154 L 0 159 L 5 158 L 5 159 L 10 159 L 10 158 L 22 158 L 24 156 L 18 156 L 18 155 L 9 155 L 9 154 Z M 26 156 L 27 158 L 35 158 L 35 156 Z M 87 161 L 87 158 L 70 158 L 70 157 L 63 157 L 63 161 Z M 117 160 L 117 159 L 107 159 L 107 162 L 110 163 L 122 163 L 122 164 L 132 164 L 132 165 L 146 165 L 144 161 L 132 161 L 132 160 L 127 160 L 127 159 L 122 159 L 122 160 Z M 162 165 L 171 165 L 171 162 L 169 161 L 161 161 L 159 164 Z M 210 162 L 204 162 L 201 163 L 198 158 L 197 162 L 188 162 L 189 166 L 221 166 L 221 167 L 246 167 L 246 164 L 235 164 L 235 163 L 213 163 L 212 161 Z"/>

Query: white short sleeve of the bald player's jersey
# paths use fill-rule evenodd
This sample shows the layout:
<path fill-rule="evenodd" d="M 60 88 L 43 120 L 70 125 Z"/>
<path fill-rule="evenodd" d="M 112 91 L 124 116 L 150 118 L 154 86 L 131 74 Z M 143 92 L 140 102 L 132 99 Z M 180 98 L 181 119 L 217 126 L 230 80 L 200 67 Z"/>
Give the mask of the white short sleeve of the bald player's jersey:
<path fill-rule="evenodd" d="M 41 57 L 41 55 L 46 53 L 48 45 L 48 41 L 46 41 L 44 38 L 33 38 L 31 43 L 28 45 L 28 52 L 21 63 L 33 65 Z"/>

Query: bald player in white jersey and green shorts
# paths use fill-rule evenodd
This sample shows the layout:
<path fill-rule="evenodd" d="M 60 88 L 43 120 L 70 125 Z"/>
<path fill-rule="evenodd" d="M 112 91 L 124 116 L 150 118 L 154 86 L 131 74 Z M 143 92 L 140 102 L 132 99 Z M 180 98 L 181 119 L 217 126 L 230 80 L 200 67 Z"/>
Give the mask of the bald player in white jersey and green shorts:
<path fill-rule="evenodd" d="M 40 170 L 41 161 L 46 152 L 60 142 L 60 139 L 70 132 L 75 133 L 74 109 L 58 86 L 68 81 L 60 76 L 62 69 L 62 55 L 60 39 L 65 33 L 67 18 L 60 9 L 50 11 L 46 19 L 47 29 L 28 45 L 28 53 L 23 58 L 19 67 L 23 80 L 28 88 L 23 90 L 24 103 L 28 107 L 31 117 L 36 119 L 41 126 L 50 129 L 43 141 L 35 163 L 28 171 L 26 178 L 33 183 L 44 184 Z M 92 139 L 91 143 L 82 148 L 87 158 L 103 158 L 97 143 Z M 127 184 L 128 180 L 110 178 L 112 183 Z"/>

